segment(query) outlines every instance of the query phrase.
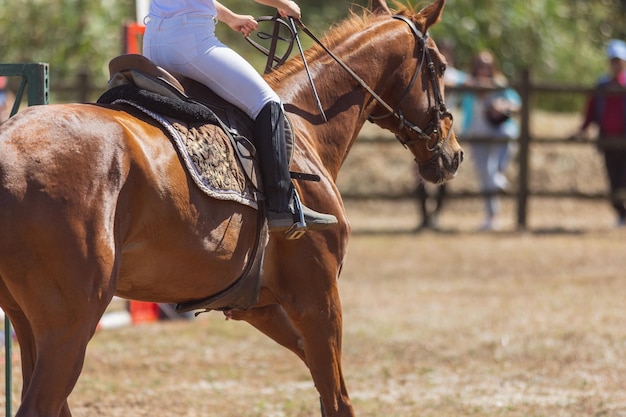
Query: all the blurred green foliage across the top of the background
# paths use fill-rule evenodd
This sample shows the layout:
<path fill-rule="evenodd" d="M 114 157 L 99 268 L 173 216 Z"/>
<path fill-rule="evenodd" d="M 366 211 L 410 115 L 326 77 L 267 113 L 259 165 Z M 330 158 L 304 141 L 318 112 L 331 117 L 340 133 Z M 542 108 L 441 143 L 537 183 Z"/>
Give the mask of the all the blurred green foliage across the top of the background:
<path fill-rule="evenodd" d="M 389 1 L 400 7 L 417 1 Z M 239 13 L 272 15 L 252 0 L 224 0 Z M 303 21 L 322 35 L 367 0 L 299 0 Z M 0 0 L 0 62 L 48 62 L 52 86 L 71 84 L 86 70 L 104 84 L 108 61 L 122 52 L 122 26 L 135 19 L 134 0 Z M 264 57 L 226 25 L 219 36 L 261 68 Z M 435 40 L 456 45 L 457 66 L 489 49 L 505 74 L 515 80 L 523 68 L 537 81 L 592 84 L 606 71 L 604 45 L 626 39 L 624 0 L 447 0 L 442 21 L 432 29 Z M 306 47 L 310 41 L 302 38 Z"/>

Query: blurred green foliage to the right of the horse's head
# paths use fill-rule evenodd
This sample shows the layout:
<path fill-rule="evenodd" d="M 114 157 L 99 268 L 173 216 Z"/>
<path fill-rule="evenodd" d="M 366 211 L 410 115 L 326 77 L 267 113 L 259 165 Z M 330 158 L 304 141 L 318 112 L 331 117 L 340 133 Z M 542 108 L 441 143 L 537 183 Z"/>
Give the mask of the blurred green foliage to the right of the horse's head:
<path fill-rule="evenodd" d="M 456 44 L 457 64 L 487 49 L 503 72 L 535 80 L 593 83 L 606 71 L 604 45 L 626 37 L 621 0 L 448 0 L 436 39 Z"/>

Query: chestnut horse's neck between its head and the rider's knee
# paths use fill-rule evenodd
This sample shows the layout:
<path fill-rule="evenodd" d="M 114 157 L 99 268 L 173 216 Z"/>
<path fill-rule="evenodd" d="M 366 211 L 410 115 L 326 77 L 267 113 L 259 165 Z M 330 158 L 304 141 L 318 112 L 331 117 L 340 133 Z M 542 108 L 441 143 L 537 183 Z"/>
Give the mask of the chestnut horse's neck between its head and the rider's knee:
<path fill-rule="evenodd" d="M 397 54 L 389 53 L 390 45 L 375 42 L 378 36 L 370 34 L 375 31 L 371 25 L 367 29 L 347 36 L 333 51 L 368 86 L 382 93 L 391 78 L 389 75 L 399 65 L 395 59 L 386 57 Z M 309 56 L 312 56 L 311 60 Z M 336 180 L 376 102 L 328 54 L 307 53 L 307 63 L 327 122 L 322 120 L 301 58 L 293 59 L 289 70 L 277 74 L 276 80 L 280 81 L 274 88 L 286 103 L 285 108 L 294 122 L 296 146 L 305 148 L 305 155 L 308 151 L 314 152 Z"/>

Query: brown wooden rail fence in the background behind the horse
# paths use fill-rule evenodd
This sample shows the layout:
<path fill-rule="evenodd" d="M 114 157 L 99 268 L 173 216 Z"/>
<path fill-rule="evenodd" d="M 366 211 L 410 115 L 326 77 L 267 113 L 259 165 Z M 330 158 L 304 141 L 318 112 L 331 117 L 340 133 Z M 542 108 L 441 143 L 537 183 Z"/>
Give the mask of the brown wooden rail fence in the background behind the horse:
<path fill-rule="evenodd" d="M 598 94 L 625 94 L 626 89 L 620 90 L 610 90 L 610 91 L 596 91 L 590 87 L 581 87 L 575 85 L 553 85 L 547 83 L 538 83 L 532 82 L 530 73 L 528 71 L 524 71 L 522 73 L 521 79 L 518 83 L 512 85 L 513 88 L 519 93 L 522 106 L 519 114 L 520 121 L 520 136 L 517 139 L 518 143 L 518 154 L 515 159 L 515 163 L 517 164 L 517 172 L 518 172 L 518 184 L 517 190 L 512 193 L 504 193 L 503 195 L 506 197 L 514 198 L 516 200 L 516 209 L 517 209 L 517 226 L 520 229 L 525 229 L 528 222 L 528 205 L 529 199 L 535 197 L 553 197 L 553 198 L 578 198 L 578 199 L 609 199 L 612 198 L 607 192 L 596 192 L 596 193 L 585 193 L 579 192 L 576 190 L 568 190 L 568 191 L 541 191 L 541 190 L 533 190 L 530 187 L 530 154 L 531 148 L 533 146 L 541 146 L 541 145 L 554 145 L 554 144 L 567 144 L 567 145 L 584 145 L 584 146 L 596 146 L 598 144 L 607 145 L 607 146 L 616 146 L 616 147 L 626 147 L 626 138 L 624 140 L 599 140 L 599 141 L 588 141 L 585 139 L 568 139 L 568 138 L 556 138 L 556 137 L 534 137 L 531 134 L 530 129 L 530 121 L 531 121 L 531 106 L 533 96 L 536 94 L 548 94 L 548 95 L 558 95 L 558 94 L 576 94 L 579 96 L 587 96 L 591 93 Z M 57 86 L 56 88 L 52 86 L 52 93 L 57 93 L 65 100 L 77 100 L 77 101 L 89 101 L 94 99 L 94 95 L 101 92 L 103 86 L 94 86 L 91 83 L 90 78 L 86 73 L 79 73 L 76 78 L 75 85 L 70 86 Z M 463 92 L 468 90 L 485 90 L 485 89 L 476 89 L 476 88 L 468 88 L 468 87 L 456 87 L 446 89 L 446 93 L 450 92 Z M 582 109 L 581 109 L 582 110 Z M 472 138 L 475 141 L 493 141 L 496 139 L 490 138 Z M 467 140 L 469 141 L 469 140 Z M 466 141 L 466 142 L 467 142 Z M 366 144 L 371 143 L 388 143 L 394 144 L 397 146 L 397 143 L 393 140 L 389 140 L 389 137 L 380 137 L 380 138 L 372 138 L 366 141 Z M 357 141 L 355 146 L 367 146 L 363 143 L 363 141 Z M 457 193 L 449 193 L 448 197 L 450 198 L 479 198 L 484 197 L 487 193 L 476 191 L 476 192 L 457 192 Z M 385 193 L 353 193 L 346 192 L 344 193 L 344 198 L 349 199 L 399 199 L 399 198 L 415 198 L 414 193 L 404 193 L 402 195 L 397 194 L 385 194 Z"/>

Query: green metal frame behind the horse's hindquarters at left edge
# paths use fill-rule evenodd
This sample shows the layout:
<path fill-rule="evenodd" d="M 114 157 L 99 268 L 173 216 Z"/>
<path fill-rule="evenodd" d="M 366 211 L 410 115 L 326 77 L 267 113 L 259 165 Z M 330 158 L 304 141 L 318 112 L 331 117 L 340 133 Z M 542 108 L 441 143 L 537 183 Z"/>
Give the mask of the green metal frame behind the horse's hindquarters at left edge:
<path fill-rule="evenodd" d="M 24 89 L 28 88 L 28 105 L 48 104 L 50 101 L 49 66 L 44 63 L 37 64 L 0 64 L 0 76 L 22 77 L 20 87 L 15 94 L 15 103 L 11 109 L 11 116 L 17 113 L 24 95 Z M 4 376 L 5 376 L 5 409 L 6 416 L 13 415 L 13 347 L 12 347 L 11 321 L 4 315 Z"/>

